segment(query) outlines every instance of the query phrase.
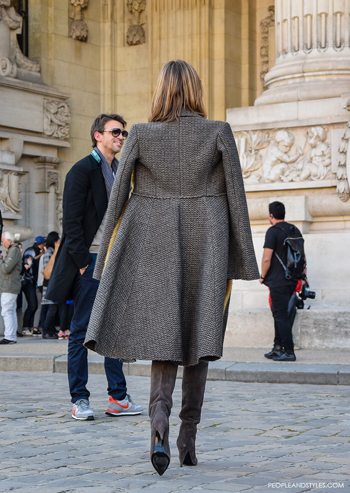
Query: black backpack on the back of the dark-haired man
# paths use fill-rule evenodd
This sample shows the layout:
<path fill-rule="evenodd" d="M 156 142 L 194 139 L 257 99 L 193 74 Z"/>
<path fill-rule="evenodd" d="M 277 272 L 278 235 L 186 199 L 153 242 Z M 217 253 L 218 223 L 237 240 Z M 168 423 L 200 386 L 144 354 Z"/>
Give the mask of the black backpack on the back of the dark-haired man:
<path fill-rule="evenodd" d="M 298 236 L 293 224 L 289 225 L 288 232 L 283 227 L 278 226 L 278 224 L 275 224 L 275 226 L 286 234 L 286 238 L 283 241 L 283 245 L 287 249 L 286 265 L 284 265 L 277 253 L 274 252 L 284 269 L 285 278 L 295 281 L 305 278 L 303 273 L 305 268 L 304 238 Z"/>

